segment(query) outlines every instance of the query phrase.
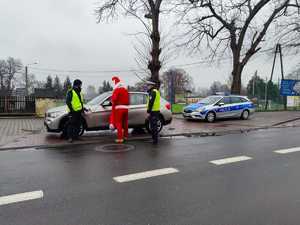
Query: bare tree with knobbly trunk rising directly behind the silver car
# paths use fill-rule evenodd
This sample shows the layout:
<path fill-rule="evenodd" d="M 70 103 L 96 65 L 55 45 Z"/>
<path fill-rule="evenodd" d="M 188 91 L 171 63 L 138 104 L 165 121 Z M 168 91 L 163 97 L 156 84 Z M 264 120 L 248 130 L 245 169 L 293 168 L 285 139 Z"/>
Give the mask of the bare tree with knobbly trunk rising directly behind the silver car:
<path fill-rule="evenodd" d="M 100 4 L 96 9 L 98 23 L 111 19 L 122 12 L 125 16 L 133 16 L 139 20 L 144 28 L 145 32 L 139 34 L 145 35 L 149 40 L 150 54 L 144 53 L 139 49 L 136 49 L 139 55 L 143 58 L 148 58 L 147 67 L 151 72 L 152 80 L 159 83 L 159 71 L 161 69 L 161 33 L 160 33 L 160 14 L 162 11 L 162 2 L 169 4 L 173 0 L 106 0 Z M 168 10 L 167 10 L 168 11 Z M 150 20 L 150 23 L 147 21 Z M 145 42 L 141 42 L 145 45 Z M 144 46 L 147 49 L 147 44 Z"/>

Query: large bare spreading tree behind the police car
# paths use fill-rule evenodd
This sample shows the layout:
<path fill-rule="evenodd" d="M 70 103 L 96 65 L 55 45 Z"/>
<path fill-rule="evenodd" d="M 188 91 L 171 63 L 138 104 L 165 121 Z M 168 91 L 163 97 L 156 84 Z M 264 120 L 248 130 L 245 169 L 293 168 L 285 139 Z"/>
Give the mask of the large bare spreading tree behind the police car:
<path fill-rule="evenodd" d="M 298 0 L 296 0 L 297 3 Z M 241 76 L 250 58 L 261 48 L 270 26 L 289 10 L 295 0 L 182 0 L 188 25 L 187 45 L 205 44 L 210 57 L 232 55 L 231 92 L 240 94 Z M 271 39 L 271 37 L 270 37 Z"/>

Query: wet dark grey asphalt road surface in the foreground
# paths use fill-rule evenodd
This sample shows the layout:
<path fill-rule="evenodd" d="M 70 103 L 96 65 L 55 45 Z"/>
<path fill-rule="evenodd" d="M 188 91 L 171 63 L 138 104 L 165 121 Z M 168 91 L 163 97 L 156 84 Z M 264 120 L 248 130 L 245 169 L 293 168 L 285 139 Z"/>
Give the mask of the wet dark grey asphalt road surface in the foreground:
<path fill-rule="evenodd" d="M 0 196 L 42 190 L 41 199 L 0 206 L 1 225 L 298 225 L 297 128 L 208 138 L 132 142 L 126 153 L 68 149 L 0 152 Z M 252 159 L 225 165 L 212 160 Z M 178 173 L 117 183 L 162 168 Z"/>

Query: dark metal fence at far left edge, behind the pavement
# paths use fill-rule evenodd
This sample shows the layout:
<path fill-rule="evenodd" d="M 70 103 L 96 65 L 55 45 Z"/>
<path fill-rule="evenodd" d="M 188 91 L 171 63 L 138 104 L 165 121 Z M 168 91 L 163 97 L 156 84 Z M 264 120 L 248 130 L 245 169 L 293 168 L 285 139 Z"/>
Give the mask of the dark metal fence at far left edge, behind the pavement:
<path fill-rule="evenodd" d="M 0 114 L 35 114 L 35 97 L 0 96 Z"/>

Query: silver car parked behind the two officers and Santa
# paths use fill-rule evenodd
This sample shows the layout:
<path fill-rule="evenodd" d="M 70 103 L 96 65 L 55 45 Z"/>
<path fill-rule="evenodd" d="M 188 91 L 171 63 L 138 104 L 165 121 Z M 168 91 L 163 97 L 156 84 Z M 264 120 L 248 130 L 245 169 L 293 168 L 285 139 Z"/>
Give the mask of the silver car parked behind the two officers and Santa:
<path fill-rule="evenodd" d="M 79 135 L 82 135 L 84 131 L 109 129 L 109 116 L 112 108 L 111 95 L 112 92 L 105 92 L 85 104 L 85 108 L 89 109 L 89 113 L 84 115 Z M 130 128 L 146 128 L 150 131 L 146 109 L 147 93 L 129 92 L 129 96 L 128 126 Z M 65 130 L 68 120 L 67 106 L 61 106 L 46 112 L 44 124 L 48 132 L 58 133 Z M 159 131 L 164 125 L 170 124 L 171 121 L 171 105 L 161 98 Z"/>

